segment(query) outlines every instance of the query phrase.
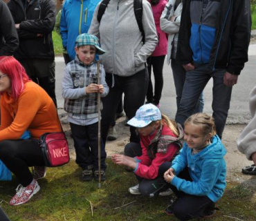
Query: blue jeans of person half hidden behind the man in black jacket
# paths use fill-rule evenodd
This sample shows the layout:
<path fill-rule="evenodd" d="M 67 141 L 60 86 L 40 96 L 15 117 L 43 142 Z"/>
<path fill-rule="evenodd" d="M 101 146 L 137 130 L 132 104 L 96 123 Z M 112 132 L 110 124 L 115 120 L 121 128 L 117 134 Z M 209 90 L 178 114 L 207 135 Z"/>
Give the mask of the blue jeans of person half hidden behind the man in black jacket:
<path fill-rule="evenodd" d="M 185 84 L 186 71 L 183 68 L 183 66 L 181 66 L 181 64 L 177 63 L 176 59 L 172 59 L 171 66 L 172 66 L 172 75 L 174 76 L 174 85 L 176 90 L 176 104 L 177 104 L 177 110 L 178 110 L 181 103 L 181 95 L 183 92 L 183 87 Z M 198 101 L 196 102 L 196 106 L 194 108 L 193 113 L 202 113 L 203 106 L 204 106 L 204 101 L 203 101 L 203 92 L 202 92 Z"/>

